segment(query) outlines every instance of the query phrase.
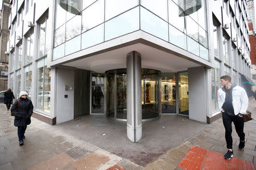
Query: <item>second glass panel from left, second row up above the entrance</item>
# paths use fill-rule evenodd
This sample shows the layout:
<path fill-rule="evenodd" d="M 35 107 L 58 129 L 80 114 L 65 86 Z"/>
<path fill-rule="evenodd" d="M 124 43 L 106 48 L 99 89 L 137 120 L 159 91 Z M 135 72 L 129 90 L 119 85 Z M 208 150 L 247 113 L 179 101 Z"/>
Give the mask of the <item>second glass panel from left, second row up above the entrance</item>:
<path fill-rule="evenodd" d="M 81 15 L 76 15 L 74 18 L 66 23 L 65 41 L 80 35 L 81 33 Z"/>

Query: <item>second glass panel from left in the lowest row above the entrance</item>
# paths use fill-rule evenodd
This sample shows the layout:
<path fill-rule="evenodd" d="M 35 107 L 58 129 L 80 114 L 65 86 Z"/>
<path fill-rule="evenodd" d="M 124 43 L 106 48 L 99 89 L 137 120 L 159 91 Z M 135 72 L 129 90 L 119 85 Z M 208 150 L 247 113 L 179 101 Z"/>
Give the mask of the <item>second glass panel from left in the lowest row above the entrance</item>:
<path fill-rule="evenodd" d="M 81 35 L 65 42 L 65 56 L 81 49 Z"/>

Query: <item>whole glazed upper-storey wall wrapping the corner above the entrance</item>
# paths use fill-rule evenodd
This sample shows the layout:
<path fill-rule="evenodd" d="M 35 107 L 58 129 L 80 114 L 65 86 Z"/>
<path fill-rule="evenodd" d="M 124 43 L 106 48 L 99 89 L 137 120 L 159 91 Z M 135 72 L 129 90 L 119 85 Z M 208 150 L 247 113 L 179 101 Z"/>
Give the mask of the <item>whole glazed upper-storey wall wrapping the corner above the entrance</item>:
<path fill-rule="evenodd" d="M 77 3 L 56 1 L 53 60 L 141 29 L 209 61 L 205 0 L 191 8 L 177 0 Z"/>

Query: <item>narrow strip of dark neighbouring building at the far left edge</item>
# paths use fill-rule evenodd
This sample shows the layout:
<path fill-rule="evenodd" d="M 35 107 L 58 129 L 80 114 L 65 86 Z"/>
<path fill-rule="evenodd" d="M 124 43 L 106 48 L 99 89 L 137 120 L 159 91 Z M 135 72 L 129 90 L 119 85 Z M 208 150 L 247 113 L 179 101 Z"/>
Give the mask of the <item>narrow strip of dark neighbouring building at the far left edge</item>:
<path fill-rule="evenodd" d="M 8 62 L 9 53 L 6 52 L 6 44 L 9 41 L 8 18 L 11 13 L 9 0 L 2 1 L 1 25 L 0 25 L 0 92 L 8 87 Z"/>

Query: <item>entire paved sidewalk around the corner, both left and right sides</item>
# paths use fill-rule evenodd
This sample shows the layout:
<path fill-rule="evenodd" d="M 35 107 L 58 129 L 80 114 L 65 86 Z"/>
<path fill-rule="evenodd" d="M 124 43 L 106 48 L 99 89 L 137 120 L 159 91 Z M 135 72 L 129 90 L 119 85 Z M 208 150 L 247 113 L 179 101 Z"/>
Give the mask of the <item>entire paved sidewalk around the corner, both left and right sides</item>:
<path fill-rule="evenodd" d="M 225 131 L 222 119 L 205 126 L 175 148 L 151 161 L 146 167 L 114 155 L 94 143 L 67 133 L 35 118 L 28 126 L 24 145 L 18 145 L 14 117 L 0 104 L 0 169 L 254 169 L 256 170 L 256 101 L 249 111 L 254 120 L 245 123 L 246 146 L 239 150 L 234 131 L 234 158 L 225 160 Z M 65 125 L 63 125 L 65 127 Z M 189 127 L 182 127 L 186 130 Z M 234 130 L 234 128 L 233 128 Z M 157 143 L 156 143 L 157 144 Z M 219 167 L 214 167 L 219 165 Z M 221 165 L 221 167 L 220 167 Z"/>

